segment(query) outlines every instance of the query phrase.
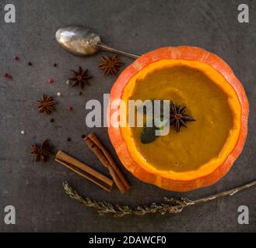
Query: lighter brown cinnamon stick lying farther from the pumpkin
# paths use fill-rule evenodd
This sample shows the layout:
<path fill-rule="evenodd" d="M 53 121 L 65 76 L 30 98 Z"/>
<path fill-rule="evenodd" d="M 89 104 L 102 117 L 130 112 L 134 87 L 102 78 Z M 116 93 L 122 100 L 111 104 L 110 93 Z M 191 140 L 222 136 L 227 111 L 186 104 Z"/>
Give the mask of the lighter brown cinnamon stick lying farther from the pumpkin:
<path fill-rule="evenodd" d="M 110 178 L 105 177 L 103 174 L 100 174 L 98 171 L 95 171 L 93 168 L 83 164 L 61 150 L 56 154 L 55 161 L 74 171 L 76 174 L 92 181 L 94 184 L 100 186 L 100 188 L 103 188 L 106 191 L 110 192 L 113 187 L 114 182 Z"/>

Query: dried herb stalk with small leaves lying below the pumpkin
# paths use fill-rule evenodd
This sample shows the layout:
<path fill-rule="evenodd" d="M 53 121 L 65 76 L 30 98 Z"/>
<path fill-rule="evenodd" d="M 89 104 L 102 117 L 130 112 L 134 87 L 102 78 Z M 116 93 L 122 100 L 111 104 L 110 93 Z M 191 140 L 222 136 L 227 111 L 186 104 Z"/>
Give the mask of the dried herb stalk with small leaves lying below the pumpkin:
<path fill-rule="evenodd" d="M 112 205 L 109 202 L 96 202 L 91 198 L 82 198 L 76 191 L 72 189 L 68 185 L 67 182 L 63 182 L 63 188 L 65 189 L 65 193 L 69 195 L 69 197 L 75 199 L 80 202 L 84 207 L 94 208 L 99 215 L 107 215 L 111 214 L 114 217 L 123 217 L 124 215 L 147 215 L 147 214 L 160 214 L 165 215 L 167 213 L 176 214 L 178 212 L 182 212 L 184 208 L 189 205 L 197 205 L 202 202 L 209 202 L 217 198 L 223 198 L 225 196 L 232 196 L 239 191 L 242 191 L 247 188 L 251 188 L 256 185 L 256 181 L 252 181 L 251 183 L 244 184 L 239 188 L 233 188 L 230 191 L 224 191 L 222 193 L 212 195 L 207 198 L 198 199 L 195 201 L 191 201 L 188 198 L 164 198 L 167 203 L 162 203 L 157 205 L 156 203 L 152 203 L 151 205 L 143 205 L 138 206 L 137 208 L 130 208 L 128 206 L 121 205 Z"/>

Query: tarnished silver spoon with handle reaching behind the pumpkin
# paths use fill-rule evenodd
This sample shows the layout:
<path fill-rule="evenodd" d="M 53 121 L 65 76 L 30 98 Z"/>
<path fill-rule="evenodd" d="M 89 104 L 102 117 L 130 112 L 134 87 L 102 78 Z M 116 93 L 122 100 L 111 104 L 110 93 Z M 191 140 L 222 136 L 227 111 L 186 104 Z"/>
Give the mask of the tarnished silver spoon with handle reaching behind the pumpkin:
<path fill-rule="evenodd" d="M 126 53 L 101 43 L 100 36 L 93 29 L 85 26 L 66 26 L 58 29 L 56 40 L 65 50 L 79 56 L 89 56 L 97 53 L 99 50 L 107 50 L 131 57 L 132 59 L 139 57 L 138 54 Z"/>

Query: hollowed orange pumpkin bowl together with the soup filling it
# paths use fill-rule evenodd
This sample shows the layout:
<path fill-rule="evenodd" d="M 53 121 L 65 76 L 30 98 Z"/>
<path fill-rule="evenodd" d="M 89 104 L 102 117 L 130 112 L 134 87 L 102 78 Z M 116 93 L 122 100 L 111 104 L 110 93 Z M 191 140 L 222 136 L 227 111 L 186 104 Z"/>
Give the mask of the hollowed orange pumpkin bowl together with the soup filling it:
<path fill-rule="evenodd" d="M 118 102 L 131 99 L 186 105 L 196 122 L 142 143 L 141 127 L 119 125 L 124 112 Z M 110 91 L 108 134 L 121 163 L 139 180 L 191 191 L 230 170 L 244 147 L 248 113 L 244 88 L 220 57 L 198 47 L 163 47 L 139 57 L 117 78 Z"/>

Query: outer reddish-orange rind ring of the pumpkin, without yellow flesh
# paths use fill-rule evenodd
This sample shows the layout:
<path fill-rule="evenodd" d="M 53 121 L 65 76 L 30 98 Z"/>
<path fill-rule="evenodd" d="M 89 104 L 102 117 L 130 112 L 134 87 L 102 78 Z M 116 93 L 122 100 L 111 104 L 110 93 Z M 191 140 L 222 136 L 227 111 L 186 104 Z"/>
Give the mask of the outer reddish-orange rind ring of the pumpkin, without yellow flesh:
<path fill-rule="evenodd" d="M 150 173 L 137 164 L 128 152 L 127 145 L 121 136 L 121 128 L 119 126 L 110 126 L 108 128 L 108 134 L 110 141 L 117 152 L 117 156 L 124 164 L 124 167 L 139 180 L 149 184 L 155 184 L 160 188 L 164 188 L 170 191 L 191 191 L 196 188 L 207 187 L 219 181 L 232 167 L 233 162 L 239 157 L 241 151 L 244 148 L 244 143 L 247 137 L 247 118 L 249 114 L 249 104 L 244 88 L 237 77 L 233 74 L 230 66 L 226 64 L 220 57 L 213 53 L 209 53 L 206 50 L 198 47 L 163 47 L 158 50 L 153 50 L 149 53 L 142 55 L 139 59 L 135 60 L 133 64 L 128 66 L 121 75 L 117 78 L 110 91 L 110 104 L 114 100 L 120 100 L 122 92 L 129 79 L 137 74 L 142 68 L 147 65 L 156 62 L 158 60 L 172 59 L 172 60 L 198 60 L 205 64 L 209 64 L 211 67 L 219 71 L 226 81 L 233 87 L 237 93 L 237 98 L 241 105 L 240 116 L 240 133 L 237 140 L 237 145 L 233 148 L 233 151 L 226 157 L 223 164 L 219 164 L 211 174 L 207 174 L 204 177 L 198 177 L 193 180 L 172 180 L 160 175 Z M 108 108 L 108 121 L 110 116 L 116 110 Z M 109 122 L 110 123 L 110 122 Z"/>

